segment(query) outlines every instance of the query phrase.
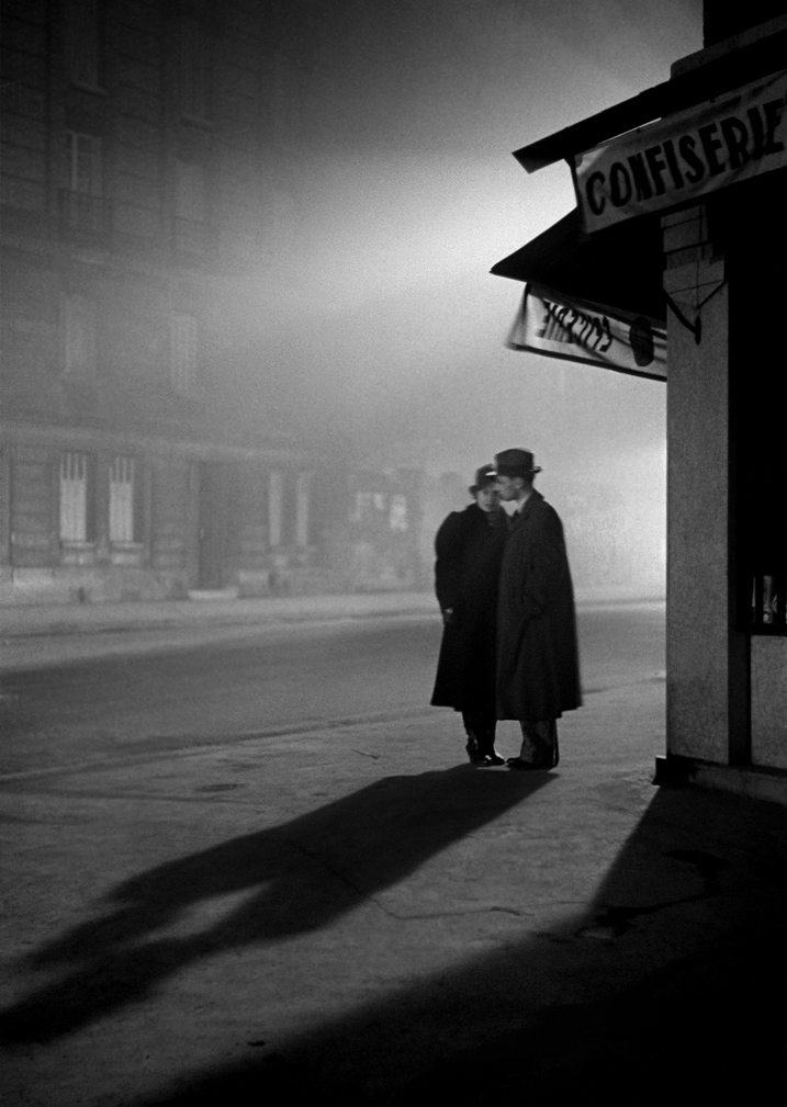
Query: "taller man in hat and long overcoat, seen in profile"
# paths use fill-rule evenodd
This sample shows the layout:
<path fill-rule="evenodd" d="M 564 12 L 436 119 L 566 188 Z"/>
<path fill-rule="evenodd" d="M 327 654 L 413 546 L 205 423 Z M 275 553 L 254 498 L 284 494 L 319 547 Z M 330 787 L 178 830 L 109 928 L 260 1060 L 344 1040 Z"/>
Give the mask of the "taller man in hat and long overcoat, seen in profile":
<path fill-rule="evenodd" d="M 528 449 L 495 457 L 500 498 L 514 505 L 497 606 L 497 717 L 517 720 L 516 769 L 558 764 L 557 720 L 582 703 L 573 586 L 563 527 L 532 486 L 540 468 Z"/>

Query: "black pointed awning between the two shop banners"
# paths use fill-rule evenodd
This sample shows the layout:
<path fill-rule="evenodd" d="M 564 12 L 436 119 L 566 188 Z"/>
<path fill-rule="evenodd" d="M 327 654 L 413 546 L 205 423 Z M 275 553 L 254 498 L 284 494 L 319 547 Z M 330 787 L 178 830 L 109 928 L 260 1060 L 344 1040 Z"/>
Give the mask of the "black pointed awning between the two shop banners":
<path fill-rule="evenodd" d="M 586 235 L 574 208 L 491 269 L 593 303 L 666 319 L 659 216 L 643 216 Z"/>

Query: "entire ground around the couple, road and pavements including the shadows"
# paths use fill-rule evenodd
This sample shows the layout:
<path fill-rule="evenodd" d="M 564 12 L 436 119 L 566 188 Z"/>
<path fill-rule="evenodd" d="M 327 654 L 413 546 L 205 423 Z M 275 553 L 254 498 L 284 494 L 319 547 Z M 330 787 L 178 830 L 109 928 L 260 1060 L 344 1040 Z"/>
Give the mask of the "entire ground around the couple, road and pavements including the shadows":
<path fill-rule="evenodd" d="M 549 773 L 466 763 L 439 632 L 139 627 L 30 668 L 20 641 L 3 1107 L 767 1101 L 784 811 L 652 786 L 663 606 L 580 611 Z"/>

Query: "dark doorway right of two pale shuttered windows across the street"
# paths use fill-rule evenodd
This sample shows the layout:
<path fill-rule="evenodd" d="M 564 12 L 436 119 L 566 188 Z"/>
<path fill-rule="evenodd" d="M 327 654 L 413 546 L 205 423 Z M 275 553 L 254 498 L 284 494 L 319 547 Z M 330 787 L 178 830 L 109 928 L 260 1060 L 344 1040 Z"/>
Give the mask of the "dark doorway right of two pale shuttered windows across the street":
<path fill-rule="evenodd" d="M 238 475 L 234 465 L 199 465 L 199 588 L 224 588 L 235 570 Z"/>

